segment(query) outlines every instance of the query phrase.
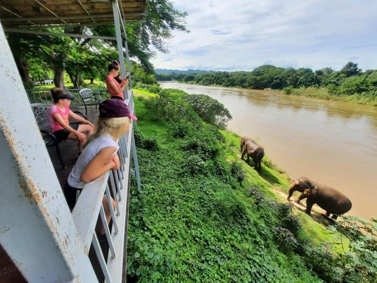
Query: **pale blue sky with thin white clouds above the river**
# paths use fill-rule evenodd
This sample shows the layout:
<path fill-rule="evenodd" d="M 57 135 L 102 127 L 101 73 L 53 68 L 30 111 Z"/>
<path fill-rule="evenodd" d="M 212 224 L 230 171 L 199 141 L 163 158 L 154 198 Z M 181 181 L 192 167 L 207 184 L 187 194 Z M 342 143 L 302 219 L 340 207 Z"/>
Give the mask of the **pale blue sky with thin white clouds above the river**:
<path fill-rule="evenodd" d="M 173 31 L 161 69 L 251 71 L 257 66 L 377 69 L 377 1 L 176 0 L 189 34 Z"/>

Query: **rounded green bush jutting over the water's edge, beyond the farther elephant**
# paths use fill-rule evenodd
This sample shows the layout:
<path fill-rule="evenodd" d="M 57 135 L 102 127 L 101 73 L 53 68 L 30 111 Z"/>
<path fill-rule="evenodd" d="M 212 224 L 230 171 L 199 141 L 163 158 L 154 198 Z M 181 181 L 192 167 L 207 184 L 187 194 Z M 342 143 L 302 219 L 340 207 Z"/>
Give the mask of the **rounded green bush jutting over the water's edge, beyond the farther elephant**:
<path fill-rule="evenodd" d="M 194 111 L 204 122 L 219 128 L 225 128 L 232 119 L 227 108 L 216 99 L 205 94 L 187 94 L 181 97 L 183 101 L 190 103 Z"/>

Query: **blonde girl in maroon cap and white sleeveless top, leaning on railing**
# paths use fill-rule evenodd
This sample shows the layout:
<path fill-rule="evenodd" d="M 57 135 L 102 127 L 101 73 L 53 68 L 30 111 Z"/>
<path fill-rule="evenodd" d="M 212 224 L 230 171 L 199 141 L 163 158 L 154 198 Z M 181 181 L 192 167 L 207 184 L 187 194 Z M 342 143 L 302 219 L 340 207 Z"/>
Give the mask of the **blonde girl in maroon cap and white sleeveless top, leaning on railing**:
<path fill-rule="evenodd" d="M 77 191 L 81 192 L 87 182 L 100 177 L 109 170 L 120 168 L 117 141 L 129 131 L 130 118 L 137 120 L 131 114 L 128 106 L 118 99 L 104 100 L 100 104 L 99 110 L 100 117 L 98 118 L 97 128 L 83 145 L 83 151 L 69 174 L 64 187 L 64 195 L 71 210 L 76 203 Z M 106 196 L 103 198 L 102 203 L 107 223 L 109 223 L 111 214 Z M 115 201 L 113 199 L 112 205 L 112 209 L 114 209 Z M 103 227 L 101 227 L 99 233 L 101 235 L 105 233 Z"/>

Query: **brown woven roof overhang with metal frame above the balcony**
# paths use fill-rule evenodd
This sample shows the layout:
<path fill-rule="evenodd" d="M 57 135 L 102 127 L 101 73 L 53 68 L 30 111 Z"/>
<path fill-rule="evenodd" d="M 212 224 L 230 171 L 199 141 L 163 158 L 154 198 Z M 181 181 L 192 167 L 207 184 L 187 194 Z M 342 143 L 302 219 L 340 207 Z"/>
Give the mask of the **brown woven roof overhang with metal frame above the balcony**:
<path fill-rule="evenodd" d="M 112 2 L 121 18 L 143 21 L 147 0 L 0 0 L 4 28 L 106 24 L 114 22 Z"/>

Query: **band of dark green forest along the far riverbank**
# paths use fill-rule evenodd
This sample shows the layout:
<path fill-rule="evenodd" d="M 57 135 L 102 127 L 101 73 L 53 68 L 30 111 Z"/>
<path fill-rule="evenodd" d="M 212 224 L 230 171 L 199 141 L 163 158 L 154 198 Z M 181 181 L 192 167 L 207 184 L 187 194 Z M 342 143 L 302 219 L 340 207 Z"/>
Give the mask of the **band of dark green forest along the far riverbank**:
<path fill-rule="evenodd" d="M 377 70 L 363 72 L 354 62 L 348 62 L 340 71 L 330 67 L 313 72 L 310 68 L 277 68 L 263 65 L 251 72 L 207 72 L 203 74 L 156 74 L 161 81 L 213 85 L 249 89 L 284 89 L 287 94 L 296 88 L 323 87 L 329 94 L 377 98 Z"/>

